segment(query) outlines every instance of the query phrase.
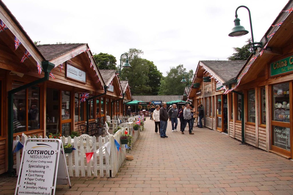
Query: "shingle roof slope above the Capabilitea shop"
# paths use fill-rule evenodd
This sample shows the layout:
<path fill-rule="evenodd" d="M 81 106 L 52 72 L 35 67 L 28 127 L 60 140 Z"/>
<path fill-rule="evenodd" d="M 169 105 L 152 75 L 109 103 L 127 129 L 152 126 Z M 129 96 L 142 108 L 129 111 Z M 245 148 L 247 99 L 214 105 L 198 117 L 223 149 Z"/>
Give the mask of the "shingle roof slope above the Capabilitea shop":
<path fill-rule="evenodd" d="M 86 43 L 68 43 L 68 44 L 45 44 L 37 45 L 37 48 L 46 60 L 52 60 L 58 56 L 66 54 L 73 49 L 85 45 Z"/>

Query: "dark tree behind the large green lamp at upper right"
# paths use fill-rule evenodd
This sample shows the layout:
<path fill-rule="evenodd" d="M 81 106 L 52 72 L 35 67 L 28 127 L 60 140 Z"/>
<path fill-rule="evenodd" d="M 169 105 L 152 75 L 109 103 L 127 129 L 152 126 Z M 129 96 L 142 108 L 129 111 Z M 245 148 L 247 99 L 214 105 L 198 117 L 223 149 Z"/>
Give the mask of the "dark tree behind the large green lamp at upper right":
<path fill-rule="evenodd" d="M 229 56 L 229 58 L 227 58 L 229 61 L 236 61 L 236 60 L 244 60 L 246 61 L 249 56 L 251 55 L 251 51 L 252 51 L 252 43 L 251 43 L 251 39 L 248 39 L 246 41 L 246 45 L 244 45 L 243 47 L 239 48 L 239 47 L 234 47 L 234 51 L 236 51 L 236 53 L 232 54 L 232 56 Z"/>

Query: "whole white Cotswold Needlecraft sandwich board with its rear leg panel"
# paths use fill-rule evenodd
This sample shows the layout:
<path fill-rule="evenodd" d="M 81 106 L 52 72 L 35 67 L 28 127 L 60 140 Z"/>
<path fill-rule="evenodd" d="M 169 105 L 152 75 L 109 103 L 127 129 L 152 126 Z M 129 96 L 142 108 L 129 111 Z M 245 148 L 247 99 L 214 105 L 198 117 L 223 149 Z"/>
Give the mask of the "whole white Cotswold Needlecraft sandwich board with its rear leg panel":
<path fill-rule="evenodd" d="M 54 195 L 56 182 L 67 184 L 68 181 L 71 188 L 65 154 L 60 152 L 61 148 L 64 151 L 60 139 L 27 139 L 25 141 L 15 195 Z"/>

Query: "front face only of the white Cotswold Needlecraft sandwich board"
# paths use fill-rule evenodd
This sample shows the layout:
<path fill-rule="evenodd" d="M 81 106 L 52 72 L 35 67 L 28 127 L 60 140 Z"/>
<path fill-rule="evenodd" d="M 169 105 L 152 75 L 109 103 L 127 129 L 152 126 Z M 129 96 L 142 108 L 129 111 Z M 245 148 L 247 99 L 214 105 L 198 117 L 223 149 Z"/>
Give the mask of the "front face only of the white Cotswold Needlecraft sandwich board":
<path fill-rule="evenodd" d="M 52 193 L 57 148 L 57 142 L 27 142 L 18 194 Z"/>

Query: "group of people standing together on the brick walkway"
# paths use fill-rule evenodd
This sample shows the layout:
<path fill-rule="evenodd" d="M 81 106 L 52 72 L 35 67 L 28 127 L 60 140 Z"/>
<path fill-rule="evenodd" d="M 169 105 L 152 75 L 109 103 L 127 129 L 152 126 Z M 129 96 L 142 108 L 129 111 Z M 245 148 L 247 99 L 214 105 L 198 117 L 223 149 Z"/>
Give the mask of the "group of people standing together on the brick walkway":
<path fill-rule="evenodd" d="M 162 103 L 162 107 L 160 108 L 159 105 L 152 105 L 151 107 L 151 119 L 155 122 L 155 133 L 160 131 L 161 138 L 168 137 L 166 135 L 167 123 L 168 120 L 171 120 L 172 125 L 172 132 L 177 131 L 178 125 L 178 118 L 180 120 L 180 131 L 181 134 L 184 134 L 185 127 L 188 124 L 188 131 L 189 134 L 193 135 L 193 124 L 195 118 L 198 116 L 198 123 L 197 127 L 202 128 L 202 118 L 204 116 L 204 111 L 202 104 L 197 107 L 197 111 L 195 110 L 194 106 L 187 103 L 185 106 L 181 106 L 178 110 L 177 105 L 173 104 L 170 106 L 170 109 L 167 111 L 166 109 L 167 104 L 166 102 Z"/>

